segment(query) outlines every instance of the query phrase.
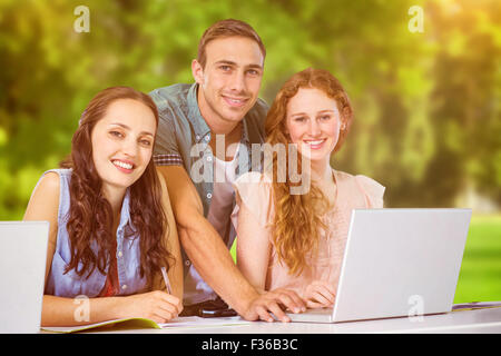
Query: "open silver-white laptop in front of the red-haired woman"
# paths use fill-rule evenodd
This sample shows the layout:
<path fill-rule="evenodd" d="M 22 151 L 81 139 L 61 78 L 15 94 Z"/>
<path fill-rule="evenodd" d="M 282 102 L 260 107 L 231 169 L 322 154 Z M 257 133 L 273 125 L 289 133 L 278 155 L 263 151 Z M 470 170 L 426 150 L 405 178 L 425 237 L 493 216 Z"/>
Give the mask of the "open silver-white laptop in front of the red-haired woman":
<path fill-rule="evenodd" d="M 471 209 L 354 209 L 333 308 L 287 313 L 338 323 L 452 310 Z"/>

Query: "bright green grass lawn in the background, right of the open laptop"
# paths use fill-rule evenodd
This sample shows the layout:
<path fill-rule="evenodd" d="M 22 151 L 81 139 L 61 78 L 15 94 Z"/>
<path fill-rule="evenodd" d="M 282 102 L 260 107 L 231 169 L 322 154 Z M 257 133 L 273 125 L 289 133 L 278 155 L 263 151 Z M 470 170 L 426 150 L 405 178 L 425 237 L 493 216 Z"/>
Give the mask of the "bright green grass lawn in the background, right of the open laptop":
<path fill-rule="evenodd" d="M 501 300 L 501 215 L 477 215 L 471 219 L 454 304 L 493 300 Z"/>

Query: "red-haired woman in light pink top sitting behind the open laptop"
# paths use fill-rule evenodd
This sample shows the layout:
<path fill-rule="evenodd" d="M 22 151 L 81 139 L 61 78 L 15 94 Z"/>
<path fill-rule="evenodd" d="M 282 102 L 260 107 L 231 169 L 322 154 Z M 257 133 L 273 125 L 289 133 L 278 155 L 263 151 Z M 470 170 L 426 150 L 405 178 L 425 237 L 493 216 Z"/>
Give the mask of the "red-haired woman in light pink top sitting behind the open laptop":
<path fill-rule="evenodd" d="M 326 70 L 297 72 L 278 91 L 266 142 L 285 156 L 274 149 L 263 174 L 235 182 L 237 265 L 256 288 L 294 290 L 308 308 L 333 306 L 352 209 L 383 207 L 383 186 L 331 167 L 352 119 L 345 90 Z M 308 189 L 296 194 L 299 186 Z"/>

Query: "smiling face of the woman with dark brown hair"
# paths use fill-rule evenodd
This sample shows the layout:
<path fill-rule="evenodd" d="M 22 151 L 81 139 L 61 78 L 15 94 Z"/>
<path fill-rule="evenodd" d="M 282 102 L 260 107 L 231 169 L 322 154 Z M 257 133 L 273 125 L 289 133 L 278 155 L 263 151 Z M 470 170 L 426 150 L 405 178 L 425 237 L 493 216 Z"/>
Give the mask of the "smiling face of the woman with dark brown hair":
<path fill-rule="evenodd" d="M 134 99 L 112 101 L 91 132 L 92 160 L 102 189 L 130 187 L 151 159 L 156 119 L 151 109 Z"/>

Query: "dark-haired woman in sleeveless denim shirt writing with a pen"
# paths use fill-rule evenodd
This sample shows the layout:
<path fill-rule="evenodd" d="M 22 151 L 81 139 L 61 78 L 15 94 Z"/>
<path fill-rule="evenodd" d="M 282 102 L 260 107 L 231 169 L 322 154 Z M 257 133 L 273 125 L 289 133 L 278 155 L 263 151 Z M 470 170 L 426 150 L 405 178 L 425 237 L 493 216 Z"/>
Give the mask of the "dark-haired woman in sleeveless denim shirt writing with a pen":
<path fill-rule="evenodd" d="M 63 168 L 45 172 L 33 189 L 24 220 L 50 222 L 42 326 L 125 317 L 165 323 L 181 312 L 176 224 L 151 160 L 157 125 L 147 95 L 100 91 Z M 88 298 L 88 315 L 76 313 L 77 297 Z"/>

